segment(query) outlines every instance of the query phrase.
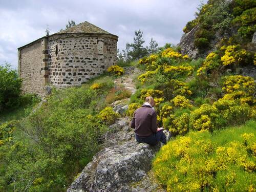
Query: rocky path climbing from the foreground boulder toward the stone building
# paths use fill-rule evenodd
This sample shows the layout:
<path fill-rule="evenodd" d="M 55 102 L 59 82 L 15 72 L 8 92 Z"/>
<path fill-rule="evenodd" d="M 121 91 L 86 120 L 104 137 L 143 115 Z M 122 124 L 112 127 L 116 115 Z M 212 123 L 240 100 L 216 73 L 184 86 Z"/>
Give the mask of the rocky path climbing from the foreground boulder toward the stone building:
<path fill-rule="evenodd" d="M 133 82 L 139 70 L 126 67 L 125 74 L 115 80 L 115 86 L 123 86 L 135 93 Z M 127 101 L 127 100 L 126 100 Z M 127 102 L 112 103 L 113 109 L 122 113 Z M 68 192 L 83 191 L 164 191 L 156 183 L 151 171 L 151 161 L 160 149 L 160 143 L 150 146 L 137 143 L 129 125 L 130 119 L 119 118 L 104 136 L 104 147 L 82 170 Z"/>

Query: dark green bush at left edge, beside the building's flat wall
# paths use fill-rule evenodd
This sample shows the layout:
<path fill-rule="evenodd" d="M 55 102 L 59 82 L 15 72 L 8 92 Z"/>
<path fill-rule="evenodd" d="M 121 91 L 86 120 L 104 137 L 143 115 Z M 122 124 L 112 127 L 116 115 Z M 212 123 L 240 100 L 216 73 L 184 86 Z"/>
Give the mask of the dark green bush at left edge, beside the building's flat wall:
<path fill-rule="evenodd" d="M 22 79 L 18 77 L 17 71 L 8 64 L 0 66 L 0 113 L 19 105 L 21 88 Z"/>

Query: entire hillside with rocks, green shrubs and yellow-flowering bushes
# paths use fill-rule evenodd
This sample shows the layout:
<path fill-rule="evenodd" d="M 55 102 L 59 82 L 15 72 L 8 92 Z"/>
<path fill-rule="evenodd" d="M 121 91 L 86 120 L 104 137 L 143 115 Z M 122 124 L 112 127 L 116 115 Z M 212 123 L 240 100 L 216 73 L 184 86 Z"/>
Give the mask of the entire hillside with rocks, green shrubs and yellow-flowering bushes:
<path fill-rule="evenodd" d="M 255 191 L 255 6 L 209 0 L 178 46 L 0 124 L 0 191 Z M 172 136 L 162 147 L 129 126 L 146 96 Z"/>

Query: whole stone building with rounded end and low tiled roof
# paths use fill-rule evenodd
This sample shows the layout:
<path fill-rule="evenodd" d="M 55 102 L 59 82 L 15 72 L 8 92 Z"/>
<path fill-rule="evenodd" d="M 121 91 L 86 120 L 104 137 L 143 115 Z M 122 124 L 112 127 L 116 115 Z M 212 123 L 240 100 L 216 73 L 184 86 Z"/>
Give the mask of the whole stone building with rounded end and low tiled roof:
<path fill-rule="evenodd" d="M 116 62 L 118 36 L 84 22 L 18 48 L 23 91 L 44 96 L 47 84 L 78 86 Z"/>

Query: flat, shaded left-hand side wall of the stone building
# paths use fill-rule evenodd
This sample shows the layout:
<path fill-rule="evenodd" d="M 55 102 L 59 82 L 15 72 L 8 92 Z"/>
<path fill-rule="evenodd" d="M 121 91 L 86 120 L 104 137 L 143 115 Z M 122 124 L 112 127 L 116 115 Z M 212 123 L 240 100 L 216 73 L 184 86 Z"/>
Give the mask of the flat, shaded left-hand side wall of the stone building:
<path fill-rule="evenodd" d="M 44 86 L 47 79 L 48 68 L 45 47 L 47 38 L 40 38 L 18 50 L 18 72 L 23 79 L 23 91 L 26 93 L 37 93 L 44 95 Z"/>

